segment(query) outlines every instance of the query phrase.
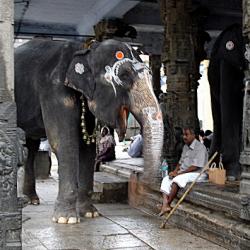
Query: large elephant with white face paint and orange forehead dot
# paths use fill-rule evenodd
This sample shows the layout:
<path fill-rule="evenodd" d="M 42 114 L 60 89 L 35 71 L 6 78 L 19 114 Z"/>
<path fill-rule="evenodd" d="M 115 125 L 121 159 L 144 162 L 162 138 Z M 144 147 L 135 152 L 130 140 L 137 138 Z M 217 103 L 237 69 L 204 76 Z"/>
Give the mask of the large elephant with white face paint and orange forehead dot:
<path fill-rule="evenodd" d="M 91 203 L 96 118 L 116 128 L 120 140 L 129 112 L 140 123 L 144 183 L 159 178 L 163 143 L 152 76 L 138 53 L 112 39 L 81 48 L 75 41 L 33 39 L 15 51 L 17 125 L 25 131 L 28 148 L 24 193 L 32 204 L 39 204 L 33 162 L 40 138 L 47 136 L 59 174 L 52 220 L 62 224 L 98 216 Z"/>

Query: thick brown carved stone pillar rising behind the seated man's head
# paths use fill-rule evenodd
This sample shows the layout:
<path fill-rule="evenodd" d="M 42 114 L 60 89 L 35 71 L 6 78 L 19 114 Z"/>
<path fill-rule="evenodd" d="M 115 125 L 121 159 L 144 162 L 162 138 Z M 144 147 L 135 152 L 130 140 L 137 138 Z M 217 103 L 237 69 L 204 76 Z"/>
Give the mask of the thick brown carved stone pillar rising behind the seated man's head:
<path fill-rule="evenodd" d="M 168 115 L 175 127 L 199 127 L 197 117 L 197 69 L 191 0 L 161 0 L 165 25 L 162 62 L 167 75 Z"/>

